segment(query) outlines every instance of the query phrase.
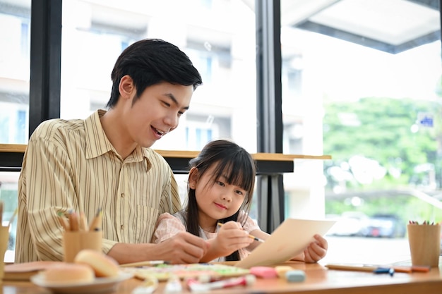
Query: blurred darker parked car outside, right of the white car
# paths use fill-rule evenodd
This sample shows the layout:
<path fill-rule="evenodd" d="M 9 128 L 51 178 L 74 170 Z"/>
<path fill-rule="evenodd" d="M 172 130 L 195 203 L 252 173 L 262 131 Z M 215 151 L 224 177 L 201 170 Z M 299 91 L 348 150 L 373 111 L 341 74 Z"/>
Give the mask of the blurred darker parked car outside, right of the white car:
<path fill-rule="evenodd" d="M 367 237 L 404 238 L 407 227 L 394 214 L 375 214 L 369 218 L 366 228 Z"/>

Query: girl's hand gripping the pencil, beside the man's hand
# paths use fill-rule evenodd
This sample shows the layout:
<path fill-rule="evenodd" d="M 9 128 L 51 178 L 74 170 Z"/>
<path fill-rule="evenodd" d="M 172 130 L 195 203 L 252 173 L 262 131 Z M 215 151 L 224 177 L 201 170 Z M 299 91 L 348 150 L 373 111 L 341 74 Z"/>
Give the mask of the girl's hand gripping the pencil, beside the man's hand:
<path fill-rule="evenodd" d="M 227 221 L 220 227 L 215 239 L 213 250 L 216 250 L 219 256 L 230 255 L 253 242 L 253 239 L 249 238 L 249 233 L 244 231 L 237 221 Z"/>

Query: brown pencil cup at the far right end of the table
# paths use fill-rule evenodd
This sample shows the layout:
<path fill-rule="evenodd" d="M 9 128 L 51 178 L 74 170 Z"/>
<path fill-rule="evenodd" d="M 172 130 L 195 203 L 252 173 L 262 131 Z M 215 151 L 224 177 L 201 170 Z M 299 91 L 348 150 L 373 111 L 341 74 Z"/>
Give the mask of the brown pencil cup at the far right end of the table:
<path fill-rule="evenodd" d="M 438 267 L 441 253 L 441 226 L 408 224 L 407 231 L 412 265 Z"/>

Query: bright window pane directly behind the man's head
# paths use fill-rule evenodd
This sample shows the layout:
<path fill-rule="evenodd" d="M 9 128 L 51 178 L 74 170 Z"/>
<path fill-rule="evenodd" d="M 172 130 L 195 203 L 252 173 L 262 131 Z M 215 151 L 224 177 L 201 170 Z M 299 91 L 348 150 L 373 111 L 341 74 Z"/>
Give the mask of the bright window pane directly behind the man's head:
<path fill-rule="evenodd" d="M 255 13 L 238 0 L 77 0 L 63 3 L 61 118 L 104 109 L 114 62 L 132 42 L 160 38 L 203 77 L 174 132 L 155 149 L 199 150 L 231 137 L 256 152 Z M 173 7 L 173 9 L 171 9 Z"/>

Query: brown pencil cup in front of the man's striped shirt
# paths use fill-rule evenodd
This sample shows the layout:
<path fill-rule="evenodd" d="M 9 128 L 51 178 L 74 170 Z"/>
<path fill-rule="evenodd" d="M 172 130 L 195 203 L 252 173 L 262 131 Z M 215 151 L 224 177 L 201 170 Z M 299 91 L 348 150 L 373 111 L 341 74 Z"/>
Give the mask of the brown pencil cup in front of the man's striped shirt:
<path fill-rule="evenodd" d="M 63 233 L 64 262 L 73 262 L 83 249 L 101 251 L 102 231 L 65 231 Z"/>

